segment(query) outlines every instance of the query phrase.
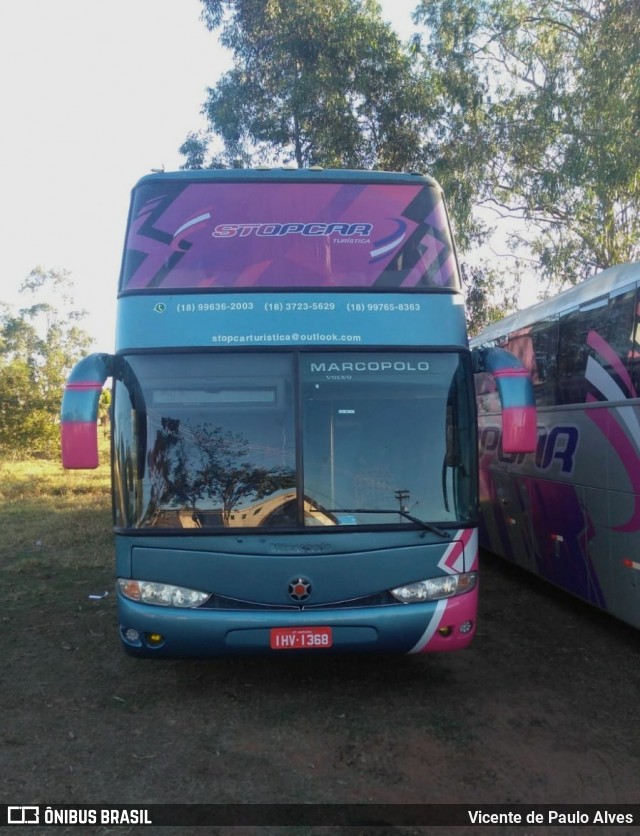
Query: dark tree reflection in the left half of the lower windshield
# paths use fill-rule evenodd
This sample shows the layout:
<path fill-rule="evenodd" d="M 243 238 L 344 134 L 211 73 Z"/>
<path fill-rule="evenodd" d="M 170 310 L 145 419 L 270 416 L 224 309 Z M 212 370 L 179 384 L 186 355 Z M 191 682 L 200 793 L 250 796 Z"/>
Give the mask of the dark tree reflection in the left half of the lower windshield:
<path fill-rule="evenodd" d="M 223 525 L 246 499 L 260 500 L 293 487 L 295 472 L 286 467 L 262 467 L 249 441 L 241 434 L 211 423 L 190 425 L 162 418 L 161 429 L 147 463 L 150 506 L 188 508 L 195 516 L 200 500 L 218 509 Z M 259 454 L 258 454 L 259 455 Z"/>

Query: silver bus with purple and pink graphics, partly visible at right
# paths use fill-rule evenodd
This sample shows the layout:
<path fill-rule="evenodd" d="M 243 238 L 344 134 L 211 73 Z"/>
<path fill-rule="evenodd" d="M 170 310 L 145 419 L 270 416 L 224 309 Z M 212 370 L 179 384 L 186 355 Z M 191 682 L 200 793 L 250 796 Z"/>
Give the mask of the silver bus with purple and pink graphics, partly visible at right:
<path fill-rule="evenodd" d="M 529 370 L 530 455 L 505 453 L 493 380 L 476 379 L 481 545 L 640 627 L 640 264 L 604 270 L 472 341 Z"/>

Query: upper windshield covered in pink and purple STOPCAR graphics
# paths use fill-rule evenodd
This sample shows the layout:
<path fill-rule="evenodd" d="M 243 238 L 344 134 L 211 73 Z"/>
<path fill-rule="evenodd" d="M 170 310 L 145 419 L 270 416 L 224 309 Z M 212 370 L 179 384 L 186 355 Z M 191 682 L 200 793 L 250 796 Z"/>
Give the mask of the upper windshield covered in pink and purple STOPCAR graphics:
<path fill-rule="evenodd" d="M 121 293 L 460 289 L 442 192 L 426 178 L 198 176 L 134 190 Z"/>

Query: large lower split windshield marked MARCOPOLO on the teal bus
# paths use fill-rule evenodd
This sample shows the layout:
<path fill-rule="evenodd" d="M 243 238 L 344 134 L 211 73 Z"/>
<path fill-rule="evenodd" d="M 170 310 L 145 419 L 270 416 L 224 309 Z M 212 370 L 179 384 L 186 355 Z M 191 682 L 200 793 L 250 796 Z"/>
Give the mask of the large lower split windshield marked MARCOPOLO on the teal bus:
<path fill-rule="evenodd" d="M 475 517 L 468 356 L 119 358 L 116 524 L 220 530 Z"/>

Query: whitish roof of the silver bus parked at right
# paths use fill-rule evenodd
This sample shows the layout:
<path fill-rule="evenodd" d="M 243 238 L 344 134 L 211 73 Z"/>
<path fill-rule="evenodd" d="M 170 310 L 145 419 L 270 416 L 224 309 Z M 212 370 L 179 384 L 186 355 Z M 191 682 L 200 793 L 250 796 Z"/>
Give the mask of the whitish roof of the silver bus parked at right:
<path fill-rule="evenodd" d="M 580 284 L 564 290 L 551 299 L 537 302 L 535 305 L 530 305 L 524 310 L 510 314 L 499 322 L 487 326 L 471 342 L 473 345 L 479 345 L 496 340 L 504 334 L 509 334 L 518 331 L 520 328 L 526 328 L 535 322 L 558 316 L 564 311 L 577 308 L 586 302 L 597 299 L 599 296 L 606 296 L 639 280 L 640 261 L 610 267 L 608 270 L 596 273 L 590 278 L 585 279 L 585 281 L 580 282 Z"/>

